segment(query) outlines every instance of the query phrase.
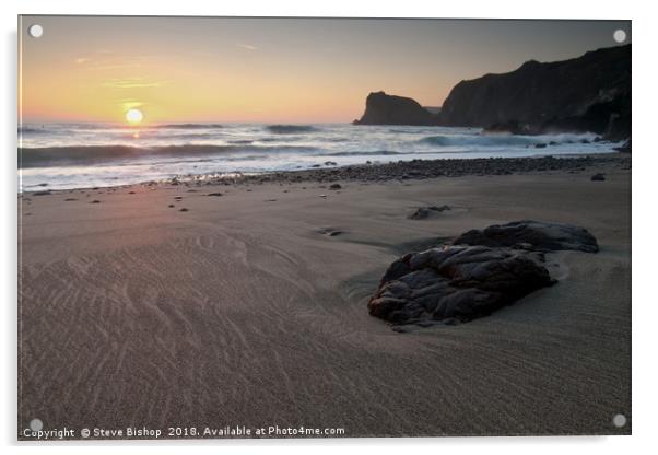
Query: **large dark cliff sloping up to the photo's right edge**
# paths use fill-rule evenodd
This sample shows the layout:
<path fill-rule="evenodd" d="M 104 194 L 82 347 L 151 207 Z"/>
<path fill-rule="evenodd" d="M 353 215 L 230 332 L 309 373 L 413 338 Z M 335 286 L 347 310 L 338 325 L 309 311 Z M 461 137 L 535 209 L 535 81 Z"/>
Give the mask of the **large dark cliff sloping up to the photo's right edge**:
<path fill-rule="evenodd" d="M 461 81 L 443 105 L 440 124 L 628 138 L 631 45 L 551 63 L 528 61 L 508 73 Z"/>

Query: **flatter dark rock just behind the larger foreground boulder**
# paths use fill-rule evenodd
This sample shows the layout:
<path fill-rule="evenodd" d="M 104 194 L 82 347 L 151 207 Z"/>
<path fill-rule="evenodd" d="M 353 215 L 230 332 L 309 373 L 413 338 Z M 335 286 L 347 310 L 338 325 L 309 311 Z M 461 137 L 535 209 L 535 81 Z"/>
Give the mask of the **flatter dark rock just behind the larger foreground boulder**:
<path fill-rule="evenodd" d="M 454 245 L 483 245 L 490 247 L 518 247 L 537 252 L 575 249 L 597 253 L 597 240 L 586 229 L 572 224 L 540 221 L 514 221 L 494 224 L 484 230 L 472 230 L 453 241 Z"/>

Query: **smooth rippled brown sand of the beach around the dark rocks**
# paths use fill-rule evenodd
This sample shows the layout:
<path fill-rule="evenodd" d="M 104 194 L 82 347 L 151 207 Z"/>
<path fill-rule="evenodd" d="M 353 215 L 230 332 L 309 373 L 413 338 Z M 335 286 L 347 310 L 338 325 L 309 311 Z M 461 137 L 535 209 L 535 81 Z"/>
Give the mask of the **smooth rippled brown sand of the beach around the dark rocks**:
<path fill-rule="evenodd" d="M 630 434 L 631 158 L 497 170 L 20 195 L 19 428 Z M 600 252 L 552 254 L 557 284 L 467 324 L 368 315 L 400 255 L 524 219 Z"/>

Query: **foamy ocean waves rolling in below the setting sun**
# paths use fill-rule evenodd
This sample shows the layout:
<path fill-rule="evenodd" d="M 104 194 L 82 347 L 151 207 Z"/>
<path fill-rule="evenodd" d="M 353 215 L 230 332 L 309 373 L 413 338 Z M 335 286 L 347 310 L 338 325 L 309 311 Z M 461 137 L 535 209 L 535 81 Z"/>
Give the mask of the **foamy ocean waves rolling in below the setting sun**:
<path fill-rule="evenodd" d="M 31 124 L 19 128 L 19 190 L 415 159 L 609 153 L 621 145 L 594 142 L 595 138 L 594 133 L 512 136 L 480 128 L 343 124 Z"/>

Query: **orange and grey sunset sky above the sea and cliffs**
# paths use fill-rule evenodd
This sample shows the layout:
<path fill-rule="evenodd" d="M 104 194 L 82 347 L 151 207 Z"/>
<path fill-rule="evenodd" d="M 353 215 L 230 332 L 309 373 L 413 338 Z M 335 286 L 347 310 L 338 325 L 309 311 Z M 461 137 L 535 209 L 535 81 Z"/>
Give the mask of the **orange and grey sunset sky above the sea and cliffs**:
<path fill-rule="evenodd" d="M 27 30 L 39 24 L 44 34 Z M 25 122 L 346 122 L 369 92 L 440 106 L 461 80 L 618 45 L 628 21 L 22 16 Z"/>

